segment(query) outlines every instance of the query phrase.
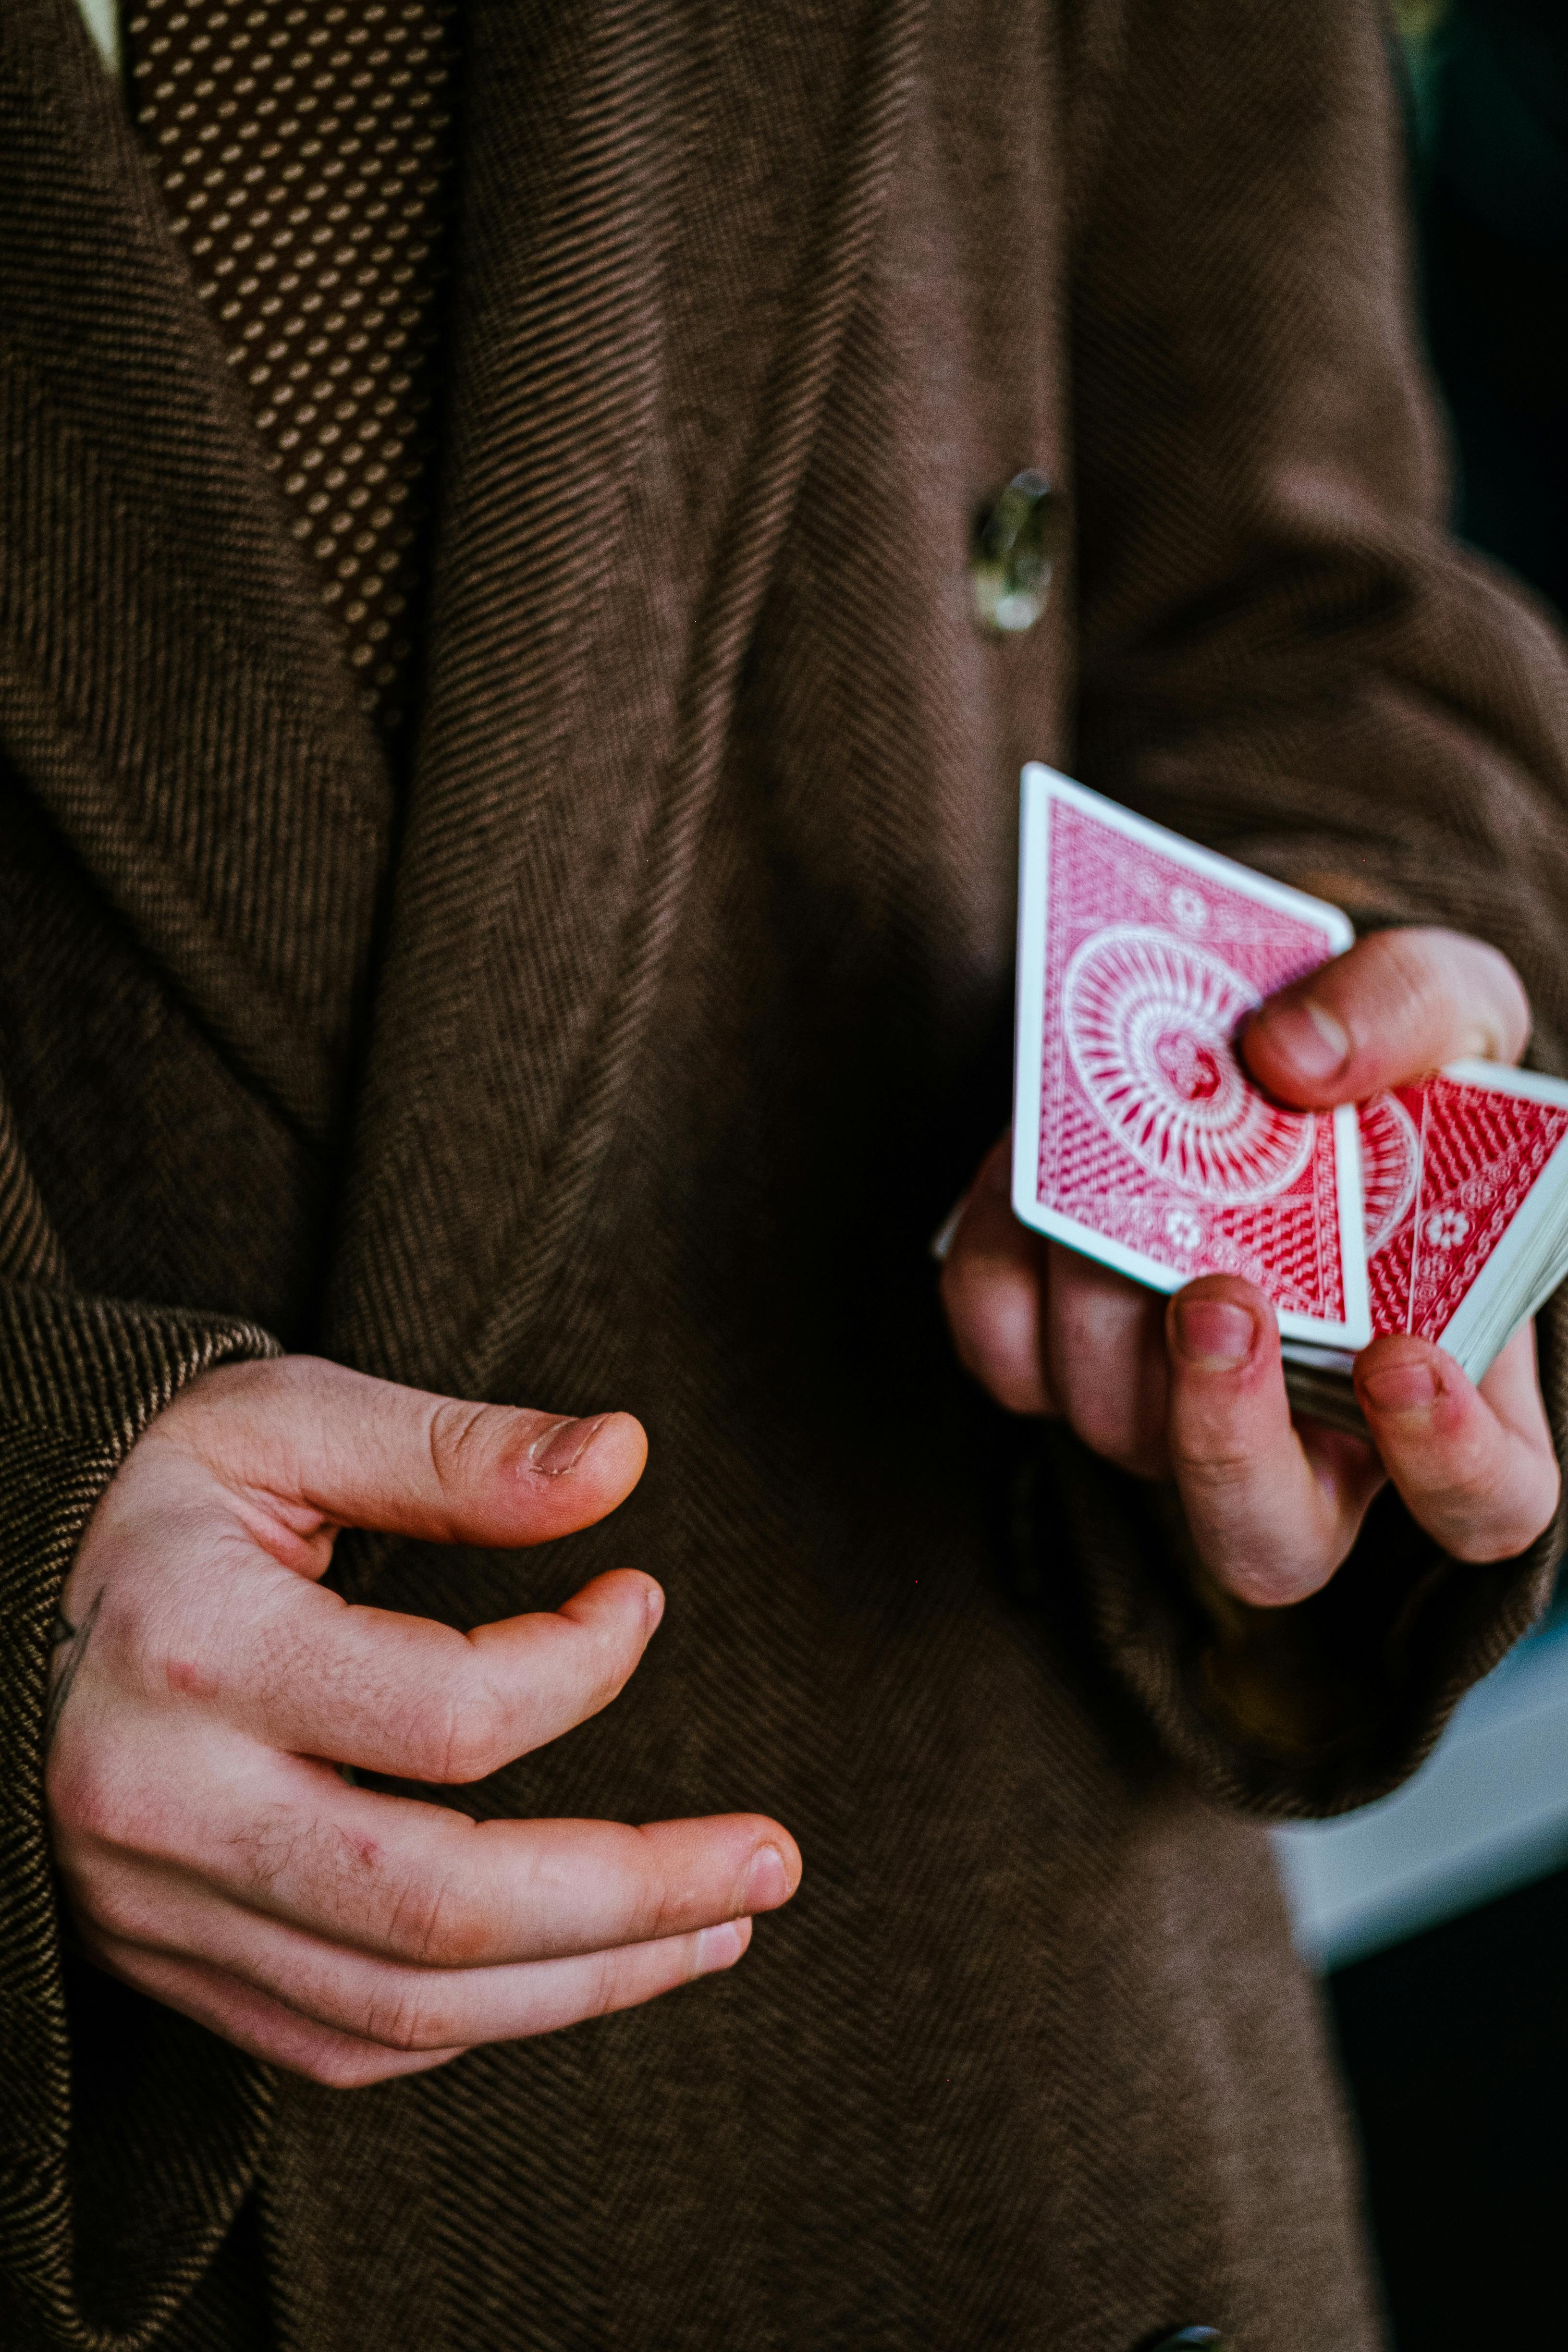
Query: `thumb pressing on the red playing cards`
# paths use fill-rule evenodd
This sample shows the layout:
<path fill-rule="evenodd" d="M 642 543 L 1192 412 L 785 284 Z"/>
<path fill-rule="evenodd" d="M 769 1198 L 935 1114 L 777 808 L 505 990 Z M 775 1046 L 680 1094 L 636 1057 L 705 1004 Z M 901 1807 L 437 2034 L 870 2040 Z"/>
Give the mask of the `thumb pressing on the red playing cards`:
<path fill-rule="evenodd" d="M 1363 1103 L 1446 1061 L 1519 1061 L 1530 1000 L 1507 955 L 1462 931 L 1373 931 L 1253 1014 L 1241 1054 L 1302 1110 Z"/>

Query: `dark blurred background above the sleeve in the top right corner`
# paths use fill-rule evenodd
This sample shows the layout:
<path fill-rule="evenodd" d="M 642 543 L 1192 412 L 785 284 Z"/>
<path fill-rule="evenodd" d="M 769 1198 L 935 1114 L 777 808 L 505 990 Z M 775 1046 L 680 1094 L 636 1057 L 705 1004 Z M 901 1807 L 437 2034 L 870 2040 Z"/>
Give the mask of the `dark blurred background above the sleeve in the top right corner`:
<path fill-rule="evenodd" d="M 1568 612 L 1568 0 L 1403 0 L 1455 529 Z"/>

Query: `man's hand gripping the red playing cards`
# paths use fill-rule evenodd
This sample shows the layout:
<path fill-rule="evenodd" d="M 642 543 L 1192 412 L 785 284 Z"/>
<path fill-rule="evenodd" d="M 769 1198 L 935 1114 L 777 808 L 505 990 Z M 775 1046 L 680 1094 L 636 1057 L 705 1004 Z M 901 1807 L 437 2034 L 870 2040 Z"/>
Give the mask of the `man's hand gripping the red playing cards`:
<path fill-rule="evenodd" d="M 1286 1103 L 1328 1110 L 1460 1056 L 1519 1061 L 1514 967 L 1455 931 L 1380 931 L 1255 1014 L 1241 1051 Z M 1009 1207 L 1006 1138 L 985 1160 L 943 1268 L 959 1359 L 1016 1414 L 1063 1414 L 1098 1454 L 1173 1477 L 1213 1576 L 1255 1604 L 1305 1599 L 1349 1552 L 1392 1477 L 1460 1559 L 1509 1559 L 1556 1508 L 1559 1472 L 1521 1331 L 1479 1388 L 1418 1338 L 1356 1359 L 1375 1451 L 1291 1423 L 1262 1291 L 1206 1275 L 1166 1301 L 1044 1242 Z"/>

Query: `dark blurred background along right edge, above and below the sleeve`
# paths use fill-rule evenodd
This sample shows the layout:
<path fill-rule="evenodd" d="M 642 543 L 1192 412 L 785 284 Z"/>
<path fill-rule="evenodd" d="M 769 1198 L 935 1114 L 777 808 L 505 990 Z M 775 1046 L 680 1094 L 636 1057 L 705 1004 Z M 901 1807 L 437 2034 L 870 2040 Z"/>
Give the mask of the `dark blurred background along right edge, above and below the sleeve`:
<path fill-rule="evenodd" d="M 1406 0 L 1396 56 L 1453 522 L 1561 616 L 1568 0 Z M 1422 1778 L 1312 1851 L 1286 1842 L 1302 1940 L 1328 1966 L 1394 2340 L 1568 2347 L 1566 1602 Z"/>

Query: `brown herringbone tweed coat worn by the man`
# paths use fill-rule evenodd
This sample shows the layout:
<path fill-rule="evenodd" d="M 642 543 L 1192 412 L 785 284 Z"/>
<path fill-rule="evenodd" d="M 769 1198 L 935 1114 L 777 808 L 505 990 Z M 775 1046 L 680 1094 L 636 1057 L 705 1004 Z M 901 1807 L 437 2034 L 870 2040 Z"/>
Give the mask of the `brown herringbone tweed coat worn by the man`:
<path fill-rule="evenodd" d="M 0 2340 L 1363 2352 L 1255 1816 L 1392 1785 L 1549 1548 L 1382 1508 L 1321 1599 L 1206 1606 L 1159 1494 L 966 1392 L 924 1240 L 1006 1117 L 1025 755 L 1568 1014 L 1563 666 L 1434 527 L 1375 14 L 468 19 L 395 802 L 73 0 L 0 9 Z M 1074 562 L 987 642 L 1023 466 Z M 559 1557 L 341 1576 L 663 1578 L 473 1804 L 778 1813 L 733 1976 L 334 2096 L 61 1957 L 61 1571 L 268 1345 L 642 1414 Z"/>

